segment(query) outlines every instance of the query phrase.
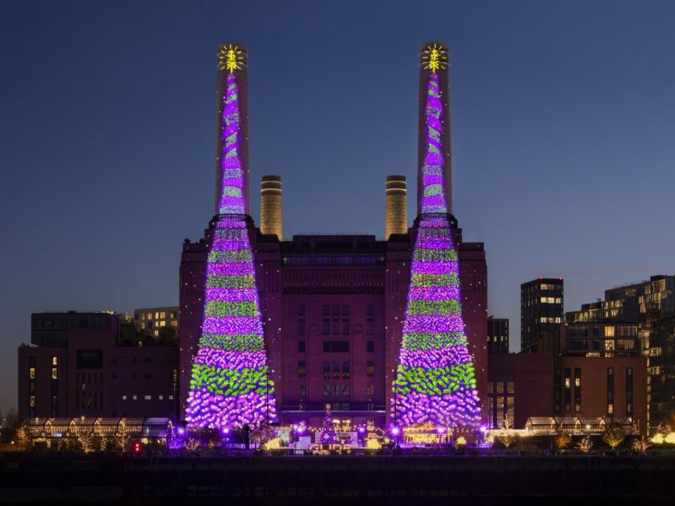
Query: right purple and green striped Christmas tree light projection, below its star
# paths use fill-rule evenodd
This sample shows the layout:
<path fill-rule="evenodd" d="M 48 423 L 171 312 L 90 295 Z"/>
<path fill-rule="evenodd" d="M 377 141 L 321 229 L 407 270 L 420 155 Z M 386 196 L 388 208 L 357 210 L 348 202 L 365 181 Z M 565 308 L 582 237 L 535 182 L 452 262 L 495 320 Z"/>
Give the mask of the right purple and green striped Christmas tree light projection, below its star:
<path fill-rule="evenodd" d="M 394 380 L 394 427 L 477 427 L 480 408 L 461 308 L 459 264 L 444 193 L 443 105 L 428 78 L 422 214 Z"/>

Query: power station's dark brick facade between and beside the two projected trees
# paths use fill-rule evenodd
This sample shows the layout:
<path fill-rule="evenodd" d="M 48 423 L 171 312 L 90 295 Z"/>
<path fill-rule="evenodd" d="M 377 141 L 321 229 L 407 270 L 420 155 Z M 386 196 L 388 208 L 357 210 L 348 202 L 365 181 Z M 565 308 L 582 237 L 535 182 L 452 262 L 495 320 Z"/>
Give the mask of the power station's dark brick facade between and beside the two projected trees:
<path fill-rule="evenodd" d="M 456 221 L 454 222 L 456 225 Z M 482 243 L 455 228 L 466 334 L 481 398 L 487 388 L 487 266 Z M 211 229 L 205 231 L 205 236 Z M 277 410 L 283 422 L 335 420 L 384 427 L 397 367 L 414 230 L 294 235 L 279 241 L 250 225 Z M 203 315 L 207 240 L 186 242 L 180 268 L 181 399 Z M 487 409 L 487 405 L 485 405 Z M 486 412 L 487 413 L 487 412 Z"/>

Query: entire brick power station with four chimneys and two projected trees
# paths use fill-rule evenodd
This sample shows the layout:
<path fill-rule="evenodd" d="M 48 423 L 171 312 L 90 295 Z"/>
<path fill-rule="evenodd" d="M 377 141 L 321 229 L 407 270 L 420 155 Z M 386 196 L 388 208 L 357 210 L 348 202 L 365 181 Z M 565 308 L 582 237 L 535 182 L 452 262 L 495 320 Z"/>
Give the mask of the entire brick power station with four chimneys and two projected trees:
<path fill-rule="evenodd" d="M 446 44 L 423 44 L 419 65 L 412 227 L 406 181 L 388 176 L 385 240 L 283 238 L 280 176 L 262 179 L 259 227 L 250 217 L 248 54 L 221 45 L 215 213 L 180 267 L 188 426 L 320 427 L 327 404 L 351 425 L 487 417 L 487 266 L 452 214 Z"/>

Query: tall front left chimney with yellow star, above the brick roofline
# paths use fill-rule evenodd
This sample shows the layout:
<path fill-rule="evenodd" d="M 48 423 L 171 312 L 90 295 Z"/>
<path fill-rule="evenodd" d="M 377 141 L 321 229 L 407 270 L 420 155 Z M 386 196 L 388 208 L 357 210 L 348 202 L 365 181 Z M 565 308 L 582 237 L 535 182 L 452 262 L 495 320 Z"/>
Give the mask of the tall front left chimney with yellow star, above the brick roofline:
<path fill-rule="evenodd" d="M 218 48 L 215 214 L 250 215 L 248 54 L 238 42 Z"/>

